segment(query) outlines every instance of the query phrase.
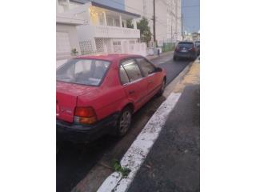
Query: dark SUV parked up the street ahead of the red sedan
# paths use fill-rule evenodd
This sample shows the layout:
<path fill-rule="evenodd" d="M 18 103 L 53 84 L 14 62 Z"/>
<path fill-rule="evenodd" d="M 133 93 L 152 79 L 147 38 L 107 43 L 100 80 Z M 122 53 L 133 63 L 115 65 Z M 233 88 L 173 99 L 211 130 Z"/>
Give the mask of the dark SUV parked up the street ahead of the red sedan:
<path fill-rule="evenodd" d="M 198 49 L 194 42 L 178 42 L 174 50 L 174 61 L 179 58 L 196 59 L 198 56 Z"/>

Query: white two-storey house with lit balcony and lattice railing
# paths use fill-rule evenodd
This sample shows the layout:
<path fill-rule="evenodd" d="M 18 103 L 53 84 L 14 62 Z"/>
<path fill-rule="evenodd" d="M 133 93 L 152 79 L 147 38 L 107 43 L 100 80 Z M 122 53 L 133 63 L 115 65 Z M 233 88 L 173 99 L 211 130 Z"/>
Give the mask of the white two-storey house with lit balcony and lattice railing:
<path fill-rule="evenodd" d="M 140 31 L 137 29 L 136 18 L 141 17 L 139 14 L 85 0 L 57 0 L 57 13 L 60 18 L 73 18 L 80 23 L 75 26 L 78 54 L 146 55 L 146 44 L 138 42 Z M 127 22 L 130 21 L 133 28 L 127 27 Z M 60 33 L 57 31 L 57 36 L 58 34 Z M 58 44 L 61 43 L 57 42 Z"/>

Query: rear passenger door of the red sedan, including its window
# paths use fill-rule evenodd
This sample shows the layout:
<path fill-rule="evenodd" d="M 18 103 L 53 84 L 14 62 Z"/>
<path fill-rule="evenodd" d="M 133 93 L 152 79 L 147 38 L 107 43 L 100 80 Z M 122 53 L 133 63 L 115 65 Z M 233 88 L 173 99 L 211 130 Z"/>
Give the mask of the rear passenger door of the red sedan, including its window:
<path fill-rule="evenodd" d="M 146 102 L 147 82 L 133 58 L 121 62 L 120 78 L 127 97 L 134 102 L 135 110 L 138 110 Z"/>

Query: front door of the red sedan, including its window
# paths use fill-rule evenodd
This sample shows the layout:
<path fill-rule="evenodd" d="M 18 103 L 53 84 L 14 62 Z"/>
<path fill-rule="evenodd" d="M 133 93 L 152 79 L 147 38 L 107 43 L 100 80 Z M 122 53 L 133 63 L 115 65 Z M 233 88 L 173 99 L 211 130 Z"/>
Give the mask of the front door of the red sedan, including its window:
<path fill-rule="evenodd" d="M 150 99 L 156 94 L 161 86 L 161 77 L 156 73 L 156 67 L 146 60 L 146 58 L 136 58 L 138 66 L 147 82 L 147 98 Z"/>

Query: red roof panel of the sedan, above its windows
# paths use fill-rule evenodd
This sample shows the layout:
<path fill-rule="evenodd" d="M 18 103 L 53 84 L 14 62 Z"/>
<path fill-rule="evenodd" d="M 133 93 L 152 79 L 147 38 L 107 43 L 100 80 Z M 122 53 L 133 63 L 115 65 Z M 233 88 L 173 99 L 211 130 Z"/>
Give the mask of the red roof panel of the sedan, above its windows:
<path fill-rule="evenodd" d="M 138 57 L 142 57 L 142 55 L 138 55 L 138 54 L 94 54 L 94 55 L 82 55 L 82 56 L 78 56 L 76 58 L 83 58 L 83 59 L 99 59 L 99 60 L 106 60 L 106 61 L 120 61 L 124 58 L 138 58 Z"/>

